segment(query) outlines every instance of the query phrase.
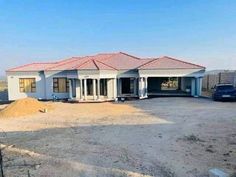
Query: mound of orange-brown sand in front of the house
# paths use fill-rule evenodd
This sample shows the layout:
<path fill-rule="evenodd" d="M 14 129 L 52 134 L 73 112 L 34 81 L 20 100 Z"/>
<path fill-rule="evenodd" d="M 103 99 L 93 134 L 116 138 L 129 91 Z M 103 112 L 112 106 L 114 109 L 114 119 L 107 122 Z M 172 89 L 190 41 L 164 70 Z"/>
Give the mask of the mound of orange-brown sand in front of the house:
<path fill-rule="evenodd" d="M 0 117 L 20 117 L 50 110 L 51 106 L 34 98 L 17 100 L 0 111 Z"/>

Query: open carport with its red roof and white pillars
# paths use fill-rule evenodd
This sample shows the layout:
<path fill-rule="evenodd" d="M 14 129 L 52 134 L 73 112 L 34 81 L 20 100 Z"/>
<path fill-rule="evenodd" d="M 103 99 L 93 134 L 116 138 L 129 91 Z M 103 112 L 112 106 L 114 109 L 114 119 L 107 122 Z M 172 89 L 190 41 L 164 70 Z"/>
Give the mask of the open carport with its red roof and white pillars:
<path fill-rule="evenodd" d="M 205 68 L 170 57 L 140 66 L 139 97 L 200 96 Z"/>

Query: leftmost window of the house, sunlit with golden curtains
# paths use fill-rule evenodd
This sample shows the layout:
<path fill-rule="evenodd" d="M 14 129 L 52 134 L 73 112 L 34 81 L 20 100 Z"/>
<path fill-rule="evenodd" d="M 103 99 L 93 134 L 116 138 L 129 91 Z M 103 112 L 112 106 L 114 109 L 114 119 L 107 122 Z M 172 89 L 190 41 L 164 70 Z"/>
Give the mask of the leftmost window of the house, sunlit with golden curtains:
<path fill-rule="evenodd" d="M 36 92 L 36 81 L 35 78 L 21 78 L 20 82 L 20 92 L 21 93 L 34 93 Z"/>

